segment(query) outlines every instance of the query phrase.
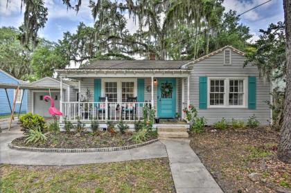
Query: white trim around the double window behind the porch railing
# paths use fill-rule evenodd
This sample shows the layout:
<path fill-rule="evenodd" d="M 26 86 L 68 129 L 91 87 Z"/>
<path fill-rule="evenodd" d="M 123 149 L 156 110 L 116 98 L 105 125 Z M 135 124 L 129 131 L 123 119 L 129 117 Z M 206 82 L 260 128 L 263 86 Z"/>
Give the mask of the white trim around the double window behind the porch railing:
<path fill-rule="evenodd" d="M 122 82 L 134 82 L 134 96 L 137 96 L 137 79 L 136 78 L 103 78 L 101 80 L 101 95 L 105 97 L 105 82 L 117 82 L 117 102 L 122 102 Z"/>

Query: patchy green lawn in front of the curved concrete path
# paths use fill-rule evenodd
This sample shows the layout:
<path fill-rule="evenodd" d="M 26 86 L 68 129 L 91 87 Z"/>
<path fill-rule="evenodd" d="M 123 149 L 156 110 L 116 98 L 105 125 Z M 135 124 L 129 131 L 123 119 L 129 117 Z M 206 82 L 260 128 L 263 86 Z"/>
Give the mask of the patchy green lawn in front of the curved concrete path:
<path fill-rule="evenodd" d="M 168 158 L 75 166 L 0 166 L 1 192 L 174 192 Z"/>

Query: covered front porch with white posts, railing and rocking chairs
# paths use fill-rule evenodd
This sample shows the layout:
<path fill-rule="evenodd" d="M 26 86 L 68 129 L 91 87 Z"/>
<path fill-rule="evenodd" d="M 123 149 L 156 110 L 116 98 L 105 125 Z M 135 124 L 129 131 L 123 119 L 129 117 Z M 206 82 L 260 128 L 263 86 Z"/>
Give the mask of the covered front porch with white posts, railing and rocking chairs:
<path fill-rule="evenodd" d="M 155 118 L 186 124 L 182 112 L 190 103 L 187 70 L 65 69 L 58 73 L 61 88 L 63 80 L 78 80 L 76 101 L 65 101 L 60 94 L 61 124 L 64 118 L 85 124 L 91 120 L 130 124 L 149 120 L 151 113 Z"/>

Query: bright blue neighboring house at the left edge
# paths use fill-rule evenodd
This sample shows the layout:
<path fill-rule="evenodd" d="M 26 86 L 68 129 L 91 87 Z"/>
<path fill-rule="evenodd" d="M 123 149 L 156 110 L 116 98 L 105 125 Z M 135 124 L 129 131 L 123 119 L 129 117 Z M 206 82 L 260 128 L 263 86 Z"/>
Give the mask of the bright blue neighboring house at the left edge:
<path fill-rule="evenodd" d="M 0 82 L 1 83 L 7 83 L 7 84 L 25 84 L 26 82 L 22 81 L 22 80 L 18 80 L 15 77 L 12 77 L 12 75 L 9 75 L 8 73 L 6 73 L 5 71 L 0 70 Z M 7 91 L 7 95 L 6 95 L 6 91 Z M 5 115 L 5 114 L 10 114 L 11 113 L 11 109 L 13 106 L 13 100 L 15 98 L 15 94 L 16 94 L 16 89 L 0 89 L 0 115 Z M 21 106 L 21 113 L 26 112 L 27 110 L 27 90 L 19 90 L 19 93 L 17 95 L 17 100 L 15 103 L 15 113 L 19 113 L 19 109 Z M 22 104 L 21 104 L 21 98 L 23 95 L 23 100 L 22 100 Z M 8 101 L 9 99 L 9 101 Z M 10 105 L 9 105 L 10 102 Z M 21 105 L 20 105 L 21 104 Z"/>

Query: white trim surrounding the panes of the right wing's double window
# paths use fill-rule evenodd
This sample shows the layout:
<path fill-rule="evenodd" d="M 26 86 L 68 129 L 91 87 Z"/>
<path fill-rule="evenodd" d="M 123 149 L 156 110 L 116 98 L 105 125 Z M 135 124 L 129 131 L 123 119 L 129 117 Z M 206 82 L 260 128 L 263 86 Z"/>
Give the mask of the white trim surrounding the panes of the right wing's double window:
<path fill-rule="evenodd" d="M 224 80 L 224 105 L 210 105 L 210 81 Z M 229 80 L 243 80 L 243 105 L 229 105 Z M 244 77 L 207 77 L 207 108 L 247 108 L 247 76 Z"/>

